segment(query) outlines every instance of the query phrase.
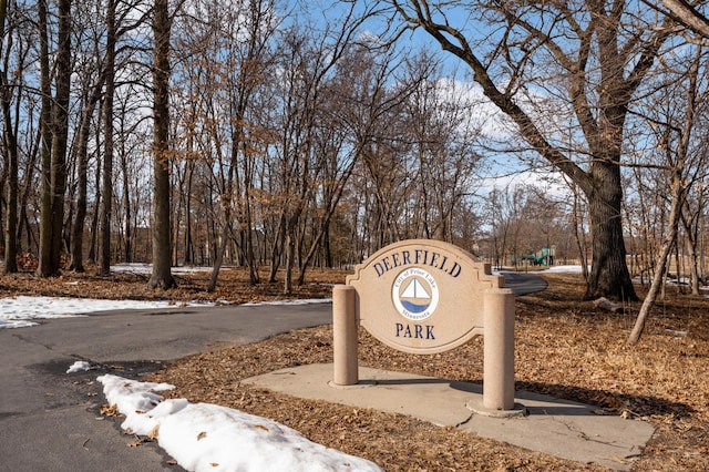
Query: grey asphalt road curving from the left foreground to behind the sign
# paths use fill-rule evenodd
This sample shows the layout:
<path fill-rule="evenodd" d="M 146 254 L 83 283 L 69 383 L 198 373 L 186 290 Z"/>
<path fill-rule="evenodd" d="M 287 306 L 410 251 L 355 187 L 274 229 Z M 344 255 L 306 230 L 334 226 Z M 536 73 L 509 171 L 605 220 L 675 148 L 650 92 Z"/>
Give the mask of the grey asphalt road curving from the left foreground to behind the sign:
<path fill-rule="evenodd" d="M 540 278 L 505 274 L 515 294 L 544 289 Z M 257 342 L 329 324 L 331 305 L 121 310 L 41 326 L 0 329 L 0 472 L 178 471 L 154 443 L 137 448 L 119 420 L 100 414 L 102 384 L 140 378 L 169 360 Z M 66 373 L 76 360 L 96 366 Z"/>

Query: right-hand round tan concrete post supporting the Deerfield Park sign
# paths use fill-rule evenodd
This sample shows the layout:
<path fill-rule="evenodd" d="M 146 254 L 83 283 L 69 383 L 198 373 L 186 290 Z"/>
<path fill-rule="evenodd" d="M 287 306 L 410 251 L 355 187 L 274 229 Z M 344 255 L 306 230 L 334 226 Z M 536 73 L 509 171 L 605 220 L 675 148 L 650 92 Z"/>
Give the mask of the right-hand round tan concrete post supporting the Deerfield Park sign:
<path fill-rule="evenodd" d="M 483 407 L 514 409 L 514 294 L 491 288 L 484 297 Z"/>

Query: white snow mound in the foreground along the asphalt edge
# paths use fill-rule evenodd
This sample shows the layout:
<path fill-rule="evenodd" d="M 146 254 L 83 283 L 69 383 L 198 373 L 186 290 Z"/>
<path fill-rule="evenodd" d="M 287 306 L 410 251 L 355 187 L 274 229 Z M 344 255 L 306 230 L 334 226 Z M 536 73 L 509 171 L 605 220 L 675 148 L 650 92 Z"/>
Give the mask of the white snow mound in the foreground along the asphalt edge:
<path fill-rule="evenodd" d="M 97 378 L 126 432 L 153 438 L 189 471 L 382 471 L 373 462 L 309 441 L 266 418 L 186 399 L 164 400 L 167 383 Z"/>

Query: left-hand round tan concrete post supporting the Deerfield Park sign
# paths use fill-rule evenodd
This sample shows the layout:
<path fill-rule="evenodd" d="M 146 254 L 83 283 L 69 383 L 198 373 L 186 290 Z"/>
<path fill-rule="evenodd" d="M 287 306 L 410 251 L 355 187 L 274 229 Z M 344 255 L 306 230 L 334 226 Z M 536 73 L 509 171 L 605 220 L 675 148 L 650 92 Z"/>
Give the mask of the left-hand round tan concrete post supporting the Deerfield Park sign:
<path fill-rule="evenodd" d="M 353 386 L 359 381 L 356 296 L 357 290 L 350 285 L 332 288 L 332 382 L 337 386 Z"/>

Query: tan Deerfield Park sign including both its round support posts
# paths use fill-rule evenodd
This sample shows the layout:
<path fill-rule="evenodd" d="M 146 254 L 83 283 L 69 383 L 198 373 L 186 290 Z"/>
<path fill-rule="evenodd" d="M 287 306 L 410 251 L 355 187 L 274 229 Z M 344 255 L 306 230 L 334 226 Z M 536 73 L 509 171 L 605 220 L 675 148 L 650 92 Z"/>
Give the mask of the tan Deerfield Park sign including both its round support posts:
<path fill-rule="evenodd" d="M 332 289 L 335 386 L 354 386 L 358 326 L 397 350 L 432 355 L 484 337 L 483 408 L 514 406 L 514 295 L 490 264 L 448 243 L 387 246 Z"/>

